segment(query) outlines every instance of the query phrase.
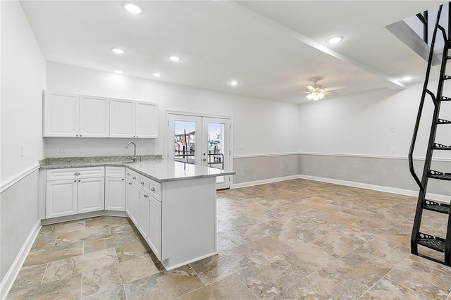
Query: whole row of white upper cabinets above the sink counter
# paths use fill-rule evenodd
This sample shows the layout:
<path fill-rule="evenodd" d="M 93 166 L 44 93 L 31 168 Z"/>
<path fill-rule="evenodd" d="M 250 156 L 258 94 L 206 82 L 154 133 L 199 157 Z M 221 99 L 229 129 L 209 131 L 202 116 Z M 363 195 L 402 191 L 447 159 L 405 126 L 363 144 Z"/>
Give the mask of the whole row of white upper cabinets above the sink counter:
<path fill-rule="evenodd" d="M 158 104 L 44 93 L 44 137 L 158 137 Z"/>

